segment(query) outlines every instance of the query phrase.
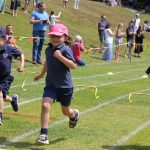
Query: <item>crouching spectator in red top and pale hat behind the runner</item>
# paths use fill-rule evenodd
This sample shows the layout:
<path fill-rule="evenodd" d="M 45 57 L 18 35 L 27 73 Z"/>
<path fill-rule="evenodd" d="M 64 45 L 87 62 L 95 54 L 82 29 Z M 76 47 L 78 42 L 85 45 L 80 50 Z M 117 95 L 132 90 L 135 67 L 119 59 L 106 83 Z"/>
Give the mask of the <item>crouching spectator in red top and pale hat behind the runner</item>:
<path fill-rule="evenodd" d="M 72 49 L 73 57 L 74 57 L 76 63 L 79 66 L 85 66 L 85 63 L 81 58 L 81 51 L 84 51 L 84 45 L 83 45 L 82 37 L 80 35 L 77 35 L 75 37 L 75 42 L 71 46 L 71 49 Z"/>

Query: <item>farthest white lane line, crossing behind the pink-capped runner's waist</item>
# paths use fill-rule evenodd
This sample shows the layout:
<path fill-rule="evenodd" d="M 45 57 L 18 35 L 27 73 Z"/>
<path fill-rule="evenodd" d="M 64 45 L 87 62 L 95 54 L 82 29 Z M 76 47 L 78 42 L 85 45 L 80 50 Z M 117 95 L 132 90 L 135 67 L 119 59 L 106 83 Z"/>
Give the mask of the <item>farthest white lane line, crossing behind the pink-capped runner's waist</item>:
<path fill-rule="evenodd" d="M 125 73 L 125 72 L 134 72 L 134 71 L 140 71 L 140 70 L 143 70 L 143 68 L 134 69 L 134 70 L 128 70 L 128 71 L 114 72 L 114 74 L 120 74 L 120 73 Z M 92 75 L 92 76 L 75 77 L 75 78 L 73 78 L 73 80 L 103 77 L 103 76 L 106 76 L 106 75 L 107 75 L 107 73 L 106 74 L 97 74 L 97 75 Z M 30 82 L 30 83 L 26 83 L 25 86 L 36 85 L 36 84 L 43 84 L 43 83 L 45 83 L 45 81 L 32 82 L 32 83 Z M 18 88 L 18 87 L 21 87 L 21 86 L 22 86 L 22 84 L 13 85 L 13 86 L 11 86 L 11 89 Z"/>

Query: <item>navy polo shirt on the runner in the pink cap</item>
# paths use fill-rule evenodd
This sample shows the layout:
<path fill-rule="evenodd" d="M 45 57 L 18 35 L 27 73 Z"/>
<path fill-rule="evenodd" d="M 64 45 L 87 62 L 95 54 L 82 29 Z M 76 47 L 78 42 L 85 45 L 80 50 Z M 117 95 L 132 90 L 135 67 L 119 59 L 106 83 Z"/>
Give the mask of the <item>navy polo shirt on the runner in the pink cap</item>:
<path fill-rule="evenodd" d="M 60 50 L 64 57 L 75 62 L 72 50 L 64 43 L 57 48 L 49 44 L 45 51 L 47 61 L 46 85 L 54 88 L 72 88 L 70 69 L 53 56 L 55 50 Z"/>

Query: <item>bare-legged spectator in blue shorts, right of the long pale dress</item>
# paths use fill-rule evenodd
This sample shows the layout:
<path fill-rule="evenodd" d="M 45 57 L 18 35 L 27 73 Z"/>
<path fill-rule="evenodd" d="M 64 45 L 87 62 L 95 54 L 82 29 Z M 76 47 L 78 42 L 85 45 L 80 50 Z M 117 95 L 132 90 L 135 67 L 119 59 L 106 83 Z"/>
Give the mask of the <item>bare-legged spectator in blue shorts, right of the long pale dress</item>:
<path fill-rule="evenodd" d="M 120 44 L 122 44 L 122 36 L 124 35 L 124 33 L 122 32 L 122 27 L 123 24 L 119 23 L 118 27 L 116 29 L 116 39 L 115 39 L 115 43 L 116 43 L 116 51 L 115 51 L 115 59 L 116 61 L 120 61 L 119 55 L 120 55 Z"/>

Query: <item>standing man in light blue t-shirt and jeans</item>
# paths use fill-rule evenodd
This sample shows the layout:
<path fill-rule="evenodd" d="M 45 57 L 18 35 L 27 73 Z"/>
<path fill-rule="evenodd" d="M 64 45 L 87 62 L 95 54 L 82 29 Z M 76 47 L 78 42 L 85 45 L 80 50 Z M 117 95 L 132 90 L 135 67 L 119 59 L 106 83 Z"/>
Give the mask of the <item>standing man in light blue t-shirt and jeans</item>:
<path fill-rule="evenodd" d="M 41 59 L 41 51 L 46 36 L 47 24 L 49 25 L 49 16 L 45 11 L 46 5 L 43 2 L 38 3 L 38 9 L 32 12 L 30 23 L 33 24 L 33 37 L 36 37 L 33 41 L 33 53 L 32 63 L 43 64 Z"/>

